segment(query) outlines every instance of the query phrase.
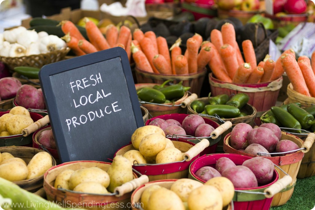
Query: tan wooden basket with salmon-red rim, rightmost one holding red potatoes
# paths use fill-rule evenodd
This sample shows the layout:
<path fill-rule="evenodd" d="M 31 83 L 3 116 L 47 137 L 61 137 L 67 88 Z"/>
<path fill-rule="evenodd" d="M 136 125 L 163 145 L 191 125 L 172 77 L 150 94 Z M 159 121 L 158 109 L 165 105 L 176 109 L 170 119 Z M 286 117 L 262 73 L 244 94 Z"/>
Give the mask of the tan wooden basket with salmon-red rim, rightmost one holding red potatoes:
<path fill-rule="evenodd" d="M 303 146 L 303 141 L 294 136 L 290 135 L 289 133 L 281 132 L 281 139 L 288 139 L 290 141 L 293 141 L 295 144 L 299 146 L 299 148 L 302 148 Z M 223 141 L 223 150 L 225 153 L 233 153 L 233 154 L 239 154 L 239 155 L 246 155 L 250 157 L 255 157 L 255 155 L 251 155 L 242 151 L 238 151 L 233 149 L 230 146 L 230 136 L 231 133 L 226 135 Z M 285 156 L 274 156 L 274 157 L 265 157 L 271 160 L 274 164 L 279 166 L 282 170 L 284 170 L 286 173 L 289 174 L 289 176 L 292 178 L 292 183 L 290 184 L 289 187 L 287 187 L 285 190 L 282 192 L 277 193 L 272 200 L 272 206 L 281 206 L 284 205 L 292 196 L 294 186 L 296 184 L 296 176 L 299 171 L 302 158 L 304 156 L 304 153 L 301 151 L 295 152 L 293 154 L 285 155 Z M 279 169 L 276 169 L 280 175 L 280 179 L 283 177 L 284 173 L 279 171 Z"/>

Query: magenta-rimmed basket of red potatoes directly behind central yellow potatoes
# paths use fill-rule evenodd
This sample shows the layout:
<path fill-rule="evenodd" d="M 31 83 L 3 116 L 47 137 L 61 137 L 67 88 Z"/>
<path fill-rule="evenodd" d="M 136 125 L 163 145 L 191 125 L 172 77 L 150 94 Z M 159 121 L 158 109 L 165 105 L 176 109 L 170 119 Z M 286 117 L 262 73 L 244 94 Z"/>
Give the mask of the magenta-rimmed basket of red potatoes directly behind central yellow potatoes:
<path fill-rule="evenodd" d="M 188 116 L 188 114 L 169 114 L 169 115 L 160 115 L 160 116 L 156 116 L 156 117 L 153 117 L 151 119 L 149 119 L 148 121 L 146 121 L 146 124 L 145 125 L 149 125 L 150 122 L 152 122 L 154 119 L 156 118 L 161 118 L 163 120 L 168 120 L 168 119 L 174 119 L 174 120 L 177 120 L 180 124 L 183 123 L 183 120 L 185 119 L 185 117 Z M 208 118 L 205 118 L 203 117 L 205 123 L 211 125 L 213 128 L 218 128 L 220 125 L 219 123 L 213 121 L 213 120 L 210 120 Z M 176 140 L 176 139 L 179 139 L 179 140 L 187 140 L 187 141 L 190 141 L 194 144 L 197 144 L 198 143 L 198 140 L 197 139 L 194 139 L 194 138 L 191 138 L 191 137 L 169 137 L 168 139 L 170 140 Z M 206 149 L 204 149 L 200 155 L 204 155 L 204 154 L 212 154 L 212 153 L 215 153 L 215 150 L 218 146 L 218 142 L 221 140 L 221 136 L 217 137 L 216 139 L 211 139 L 211 138 L 207 138 L 210 142 L 210 145 L 209 147 L 207 147 Z"/>

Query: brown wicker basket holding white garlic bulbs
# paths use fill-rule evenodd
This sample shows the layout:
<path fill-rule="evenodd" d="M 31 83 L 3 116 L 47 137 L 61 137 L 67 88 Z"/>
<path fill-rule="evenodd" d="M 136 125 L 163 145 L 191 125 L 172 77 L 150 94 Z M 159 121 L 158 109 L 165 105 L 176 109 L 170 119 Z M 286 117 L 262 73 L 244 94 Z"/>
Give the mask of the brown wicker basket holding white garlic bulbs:
<path fill-rule="evenodd" d="M 11 58 L 0 56 L 0 61 L 8 65 L 10 69 L 13 69 L 16 66 L 31 66 L 40 68 L 43 65 L 63 60 L 69 51 L 70 48 L 63 48 L 45 54 L 29 55 L 23 57 Z"/>

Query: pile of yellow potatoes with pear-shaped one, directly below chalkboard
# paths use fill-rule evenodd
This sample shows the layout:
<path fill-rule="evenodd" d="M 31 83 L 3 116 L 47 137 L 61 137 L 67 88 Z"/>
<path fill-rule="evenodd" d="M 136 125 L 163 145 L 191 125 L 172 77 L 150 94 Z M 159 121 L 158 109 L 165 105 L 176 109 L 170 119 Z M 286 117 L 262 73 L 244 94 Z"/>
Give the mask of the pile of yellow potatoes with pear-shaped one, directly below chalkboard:
<path fill-rule="evenodd" d="M 54 187 L 82 193 L 108 194 L 133 178 L 130 161 L 121 155 L 117 155 L 107 172 L 99 167 L 62 171 L 56 177 Z"/>

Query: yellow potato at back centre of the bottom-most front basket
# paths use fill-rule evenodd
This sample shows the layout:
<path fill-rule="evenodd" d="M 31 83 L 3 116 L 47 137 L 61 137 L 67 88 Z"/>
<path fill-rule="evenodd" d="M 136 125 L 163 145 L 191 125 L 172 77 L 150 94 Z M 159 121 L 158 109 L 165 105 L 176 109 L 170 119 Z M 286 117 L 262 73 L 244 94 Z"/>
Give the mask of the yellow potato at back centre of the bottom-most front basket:
<path fill-rule="evenodd" d="M 203 186 L 201 182 L 192 179 L 178 179 L 172 184 L 171 190 L 175 192 L 183 202 L 187 202 L 189 193 Z"/>

